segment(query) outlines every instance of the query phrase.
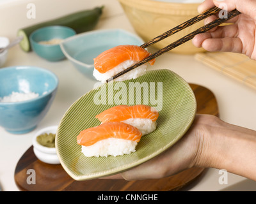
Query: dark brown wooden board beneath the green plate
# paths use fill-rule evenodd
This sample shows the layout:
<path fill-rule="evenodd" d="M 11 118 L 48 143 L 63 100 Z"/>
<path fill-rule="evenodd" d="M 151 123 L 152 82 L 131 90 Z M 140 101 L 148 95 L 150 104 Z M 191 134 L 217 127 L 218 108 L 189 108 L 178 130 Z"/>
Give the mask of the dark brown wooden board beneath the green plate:
<path fill-rule="evenodd" d="M 195 92 L 197 113 L 218 116 L 218 105 L 214 94 L 205 87 L 190 84 Z M 30 173 L 35 170 L 36 184 L 28 184 Z M 31 146 L 20 158 L 15 168 L 15 183 L 20 191 L 178 191 L 188 186 L 204 171 L 204 168 L 190 168 L 164 179 L 148 180 L 85 180 L 72 179 L 61 164 L 46 164 L 38 160 Z"/>

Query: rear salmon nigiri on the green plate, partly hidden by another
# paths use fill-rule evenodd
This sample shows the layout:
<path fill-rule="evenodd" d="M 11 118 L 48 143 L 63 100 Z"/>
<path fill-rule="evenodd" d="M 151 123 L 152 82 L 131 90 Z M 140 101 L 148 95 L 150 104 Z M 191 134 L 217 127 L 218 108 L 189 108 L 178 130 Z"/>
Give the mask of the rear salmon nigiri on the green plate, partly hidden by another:
<path fill-rule="evenodd" d="M 155 108 L 147 105 L 118 105 L 96 115 L 100 122 L 124 122 L 138 128 L 142 135 L 156 130 L 156 120 L 159 113 Z"/>

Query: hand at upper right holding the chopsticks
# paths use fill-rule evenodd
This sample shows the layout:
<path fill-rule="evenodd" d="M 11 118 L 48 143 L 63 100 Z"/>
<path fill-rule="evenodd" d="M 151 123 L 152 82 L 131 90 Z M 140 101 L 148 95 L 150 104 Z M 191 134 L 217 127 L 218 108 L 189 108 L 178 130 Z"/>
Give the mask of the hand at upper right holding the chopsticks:
<path fill-rule="evenodd" d="M 241 14 L 227 21 L 231 25 L 218 26 L 207 33 L 196 35 L 193 44 L 210 52 L 237 52 L 256 60 L 256 1 L 205 0 L 198 11 L 202 13 L 221 4 L 227 5 L 228 11 L 237 9 Z M 213 15 L 205 19 L 205 24 L 216 18 Z"/>

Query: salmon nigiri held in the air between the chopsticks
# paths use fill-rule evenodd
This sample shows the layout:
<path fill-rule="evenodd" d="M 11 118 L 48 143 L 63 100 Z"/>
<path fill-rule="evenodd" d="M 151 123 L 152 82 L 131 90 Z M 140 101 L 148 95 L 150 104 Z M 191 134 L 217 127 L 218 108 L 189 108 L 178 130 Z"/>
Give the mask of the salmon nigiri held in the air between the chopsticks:
<path fill-rule="evenodd" d="M 104 83 L 117 73 L 136 64 L 148 57 L 150 52 L 137 45 L 119 45 L 105 52 L 102 52 L 94 60 L 93 76 Z M 152 59 L 148 63 L 152 66 L 156 59 Z M 116 81 L 124 81 L 132 78 L 138 78 L 147 71 L 147 65 L 142 64 L 128 73 L 116 78 Z"/>

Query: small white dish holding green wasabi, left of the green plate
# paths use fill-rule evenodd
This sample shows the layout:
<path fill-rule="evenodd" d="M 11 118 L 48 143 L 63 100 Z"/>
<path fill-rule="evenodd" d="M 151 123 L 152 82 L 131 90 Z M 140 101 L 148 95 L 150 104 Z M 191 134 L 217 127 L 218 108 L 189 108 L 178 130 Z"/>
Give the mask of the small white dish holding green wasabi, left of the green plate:
<path fill-rule="evenodd" d="M 35 153 L 35 156 L 42 162 L 47 164 L 60 164 L 60 159 L 58 158 L 58 155 L 56 153 L 55 147 L 44 147 L 43 145 L 40 145 L 36 141 L 36 137 L 39 135 L 42 135 L 44 133 L 53 133 L 55 134 L 57 131 L 58 126 L 50 126 L 47 128 L 40 129 L 35 136 L 33 137 L 33 150 Z"/>

